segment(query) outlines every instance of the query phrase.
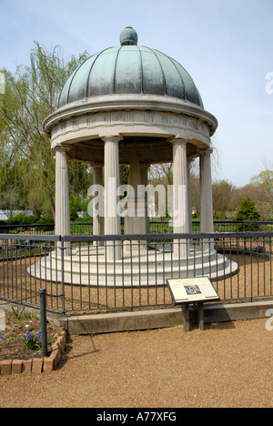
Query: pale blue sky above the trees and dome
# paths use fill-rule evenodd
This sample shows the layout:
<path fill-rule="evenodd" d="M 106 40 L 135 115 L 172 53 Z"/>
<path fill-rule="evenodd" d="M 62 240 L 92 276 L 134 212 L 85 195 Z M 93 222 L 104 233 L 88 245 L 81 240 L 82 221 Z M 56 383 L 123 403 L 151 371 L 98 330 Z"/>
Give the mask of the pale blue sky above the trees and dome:
<path fill-rule="evenodd" d="M 187 69 L 217 117 L 214 179 L 240 187 L 273 167 L 273 0 L 0 0 L 0 69 L 28 65 L 34 40 L 93 55 L 126 25 Z"/>

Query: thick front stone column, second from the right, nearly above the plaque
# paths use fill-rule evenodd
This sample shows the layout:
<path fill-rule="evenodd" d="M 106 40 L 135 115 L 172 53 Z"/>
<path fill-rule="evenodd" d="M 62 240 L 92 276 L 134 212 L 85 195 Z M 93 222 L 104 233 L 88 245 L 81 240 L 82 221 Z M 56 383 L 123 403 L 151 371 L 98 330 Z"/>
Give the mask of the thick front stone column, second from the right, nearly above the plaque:
<path fill-rule="evenodd" d="M 187 141 L 184 139 L 173 139 L 173 217 L 174 233 L 188 233 L 188 178 L 187 178 Z M 189 241 L 180 239 L 174 241 L 174 256 L 176 258 L 187 258 L 189 253 Z"/>

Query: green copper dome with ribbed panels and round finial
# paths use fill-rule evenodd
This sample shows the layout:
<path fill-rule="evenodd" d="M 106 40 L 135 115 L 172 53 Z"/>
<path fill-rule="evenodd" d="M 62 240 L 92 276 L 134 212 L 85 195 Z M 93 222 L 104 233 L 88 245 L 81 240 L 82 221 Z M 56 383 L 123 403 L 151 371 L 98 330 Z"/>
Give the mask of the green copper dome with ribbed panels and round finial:
<path fill-rule="evenodd" d="M 59 107 L 88 97 L 109 95 L 170 96 L 203 106 L 191 76 L 178 62 L 147 46 L 137 46 L 137 34 L 126 27 L 121 46 L 90 56 L 68 78 Z"/>

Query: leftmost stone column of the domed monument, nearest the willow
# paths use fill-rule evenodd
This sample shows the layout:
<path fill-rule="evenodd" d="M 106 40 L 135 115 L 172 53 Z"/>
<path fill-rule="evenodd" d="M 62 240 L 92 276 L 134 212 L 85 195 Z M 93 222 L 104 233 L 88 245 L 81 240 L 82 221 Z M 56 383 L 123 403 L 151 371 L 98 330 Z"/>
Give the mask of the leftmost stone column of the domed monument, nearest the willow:
<path fill-rule="evenodd" d="M 70 212 L 69 212 L 69 180 L 66 152 L 69 147 L 56 147 L 56 213 L 55 233 L 56 235 L 70 235 Z M 70 247 L 66 243 L 66 248 Z M 68 255 L 68 251 L 65 251 Z"/>

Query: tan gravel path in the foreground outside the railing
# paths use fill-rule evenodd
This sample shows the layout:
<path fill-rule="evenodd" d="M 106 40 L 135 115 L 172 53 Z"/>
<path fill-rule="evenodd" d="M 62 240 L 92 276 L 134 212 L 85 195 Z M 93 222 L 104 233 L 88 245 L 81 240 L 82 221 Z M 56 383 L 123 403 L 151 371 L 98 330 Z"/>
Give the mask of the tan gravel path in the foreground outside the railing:
<path fill-rule="evenodd" d="M 0 376 L 0 407 L 273 407 L 267 319 L 77 336 L 58 370 Z"/>

